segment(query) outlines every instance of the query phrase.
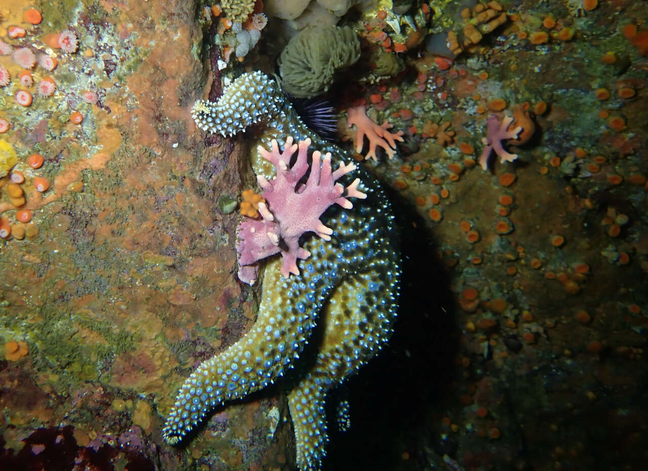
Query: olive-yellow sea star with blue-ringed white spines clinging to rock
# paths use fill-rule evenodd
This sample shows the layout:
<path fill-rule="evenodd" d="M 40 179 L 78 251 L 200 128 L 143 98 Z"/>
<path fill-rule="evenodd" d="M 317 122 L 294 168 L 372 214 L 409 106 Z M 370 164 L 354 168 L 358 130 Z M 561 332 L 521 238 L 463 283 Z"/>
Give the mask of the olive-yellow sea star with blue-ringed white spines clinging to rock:
<path fill-rule="evenodd" d="M 311 139 L 312 148 L 330 152 L 332 165 L 345 155 L 310 132 L 279 86 L 260 72 L 238 77 L 217 102 L 197 102 L 192 115 L 200 128 L 222 135 L 253 126 L 255 133 L 248 136 L 264 148 L 270 148 L 272 139 L 283 143 L 291 135 L 295 141 Z M 250 147 L 257 176 L 272 178 L 273 166 L 260 157 L 256 145 Z M 367 198 L 354 201 L 351 209 L 333 205 L 325 211 L 321 220 L 332 229 L 331 240 L 305 240 L 310 257 L 298 261 L 299 275 L 284 278 L 281 257 L 266 263 L 257 321 L 181 386 L 163 430 L 168 443 L 180 442 L 216 406 L 287 374 L 297 466 L 319 469 L 327 443 L 327 393 L 386 343 L 398 307 L 399 231 L 393 209 L 364 168 L 339 181 L 347 186 L 356 177 Z M 323 338 L 316 359 L 296 361 L 318 324 Z"/>

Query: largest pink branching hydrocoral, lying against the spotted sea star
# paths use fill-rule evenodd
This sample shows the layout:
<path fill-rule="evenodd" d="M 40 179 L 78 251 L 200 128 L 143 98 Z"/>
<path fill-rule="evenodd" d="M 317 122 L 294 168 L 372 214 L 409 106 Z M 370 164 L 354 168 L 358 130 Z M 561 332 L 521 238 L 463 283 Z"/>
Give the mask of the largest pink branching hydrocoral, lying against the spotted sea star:
<path fill-rule="evenodd" d="M 353 207 L 347 198 L 366 198 L 358 190 L 360 179 L 355 179 L 342 196 L 344 187 L 335 181 L 356 168 L 353 163 L 340 163 L 338 170 L 331 170 L 330 153 L 327 153 L 320 165 L 321 153 L 312 154 L 310 174 L 305 184 L 299 180 L 308 171 L 308 146 L 310 139 L 293 143 L 288 137 L 284 151 L 279 151 L 279 144 L 272 140 L 272 151 L 259 146 L 259 154 L 273 163 L 277 176 L 268 181 L 257 177 L 263 189 L 262 196 L 267 201 L 259 203 L 261 219 L 245 218 L 238 225 L 238 278 L 240 281 L 253 284 L 257 280 L 259 267 L 257 262 L 281 251 L 283 264 L 281 274 L 288 277 L 290 273 L 299 275 L 297 258 L 308 258 L 310 252 L 299 247 L 299 237 L 307 232 L 314 232 L 324 240 L 330 240 L 333 230 L 319 220 L 326 209 L 333 203 L 350 209 Z M 299 149 L 297 160 L 288 167 L 290 159 Z M 346 197 L 346 198 L 345 198 Z"/>

